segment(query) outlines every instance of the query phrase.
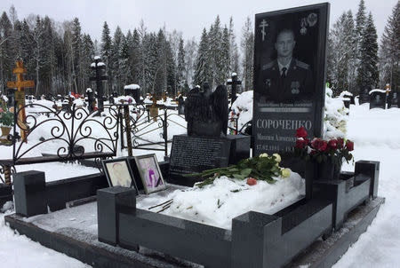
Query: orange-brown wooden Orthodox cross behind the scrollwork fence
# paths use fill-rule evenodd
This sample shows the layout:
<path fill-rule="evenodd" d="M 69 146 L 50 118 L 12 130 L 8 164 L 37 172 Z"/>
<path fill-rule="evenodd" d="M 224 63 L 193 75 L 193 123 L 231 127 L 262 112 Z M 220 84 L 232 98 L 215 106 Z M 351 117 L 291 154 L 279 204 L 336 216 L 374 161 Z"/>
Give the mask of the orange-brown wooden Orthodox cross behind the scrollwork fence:
<path fill-rule="evenodd" d="M 12 81 L 7 83 L 7 88 L 10 89 L 17 89 L 14 92 L 14 99 L 17 102 L 18 109 L 21 108 L 20 112 L 18 113 L 18 126 L 20 127 L 20 137 L 23 141 L 27 142 L 27 132 L 28 132 L 28 125 L 27 125 L 27 116 L 25 114 L 25 88 L 34 88 L 35 82 L 32 80 L 24 81 L 24 74 L 27 73 L 27 68 L 23 66 L 22 61 L 16 62 L 17 67 L 12 70 L 12 74 L 17 75 L 17 81 Z M 14 112 L 15 113 L 15 112 Z"/>

